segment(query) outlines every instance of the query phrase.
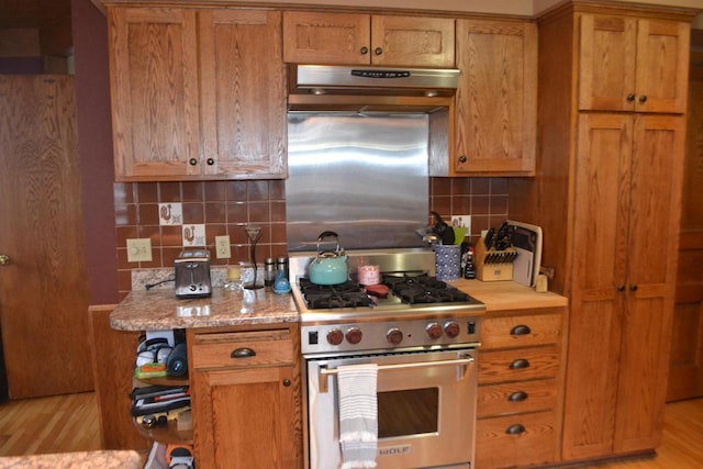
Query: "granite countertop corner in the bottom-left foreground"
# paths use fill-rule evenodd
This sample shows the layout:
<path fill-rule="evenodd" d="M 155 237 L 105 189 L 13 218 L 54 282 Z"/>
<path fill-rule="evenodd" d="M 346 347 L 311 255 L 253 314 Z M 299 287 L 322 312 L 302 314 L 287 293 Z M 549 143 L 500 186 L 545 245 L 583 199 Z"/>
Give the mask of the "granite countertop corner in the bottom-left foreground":
<path fill-rule="evenodd" d="M 0 468 L 32 469 L 141 469 L 142 457 L 136 451 L 75 451 L 47 455 L 8 456 L 0 458 Z"/>

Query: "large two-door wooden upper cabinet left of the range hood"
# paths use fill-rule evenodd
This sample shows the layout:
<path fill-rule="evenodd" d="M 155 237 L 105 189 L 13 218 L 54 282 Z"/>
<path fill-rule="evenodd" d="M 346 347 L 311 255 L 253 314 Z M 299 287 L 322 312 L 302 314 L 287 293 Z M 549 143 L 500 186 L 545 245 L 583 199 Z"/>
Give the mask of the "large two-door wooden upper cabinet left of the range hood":
<path fill-rule="evenodd" d="M 108 11 L 115 179 L 287 176 L 281 13 Z"/>

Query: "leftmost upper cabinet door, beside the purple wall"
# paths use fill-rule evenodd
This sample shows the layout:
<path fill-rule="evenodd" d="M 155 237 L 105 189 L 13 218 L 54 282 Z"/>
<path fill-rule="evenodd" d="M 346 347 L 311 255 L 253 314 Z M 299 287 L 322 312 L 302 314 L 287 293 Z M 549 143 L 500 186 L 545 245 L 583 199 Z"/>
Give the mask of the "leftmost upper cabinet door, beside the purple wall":
<path fill-rule="evenodd" d="M 199 175 L 196 13 L 109 10 L 116 180 Z"/>

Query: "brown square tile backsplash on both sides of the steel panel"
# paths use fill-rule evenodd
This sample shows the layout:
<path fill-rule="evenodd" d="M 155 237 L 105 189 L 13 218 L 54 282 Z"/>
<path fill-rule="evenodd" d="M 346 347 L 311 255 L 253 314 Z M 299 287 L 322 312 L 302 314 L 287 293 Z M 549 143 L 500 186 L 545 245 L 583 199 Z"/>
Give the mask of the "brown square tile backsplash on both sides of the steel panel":
<path fill-rule="evenodd" d="M 471 238 L 507 217 L 505 178 L 429 178 L 429 208 L 447 219 L 471 215 Z M 115 182 L 120 297 L 132 270 L 171 268 L 185 246 L 204 245 L 213 266 L 248 260 L 245 226 L 261 227 L 257 259 L 284 256 L 286 181 Z M 428 215 L 428 223 L 432 222 Z M 232 257 L 215 258 L 215 236 L 228 235 Z M 127 263 L 126 239 L 149 238 L 149 263 Z"/>

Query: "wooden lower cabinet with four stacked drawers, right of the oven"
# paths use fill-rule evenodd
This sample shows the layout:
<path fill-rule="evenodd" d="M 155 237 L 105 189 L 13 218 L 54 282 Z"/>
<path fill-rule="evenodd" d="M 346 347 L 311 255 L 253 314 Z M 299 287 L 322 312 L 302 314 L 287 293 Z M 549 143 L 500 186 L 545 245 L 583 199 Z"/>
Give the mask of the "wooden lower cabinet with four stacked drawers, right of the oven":
<path fill-rule="evenodd" d="M 479 355 L 476 467 L 559 460 L 566 309 L 491 311 Z"/>

